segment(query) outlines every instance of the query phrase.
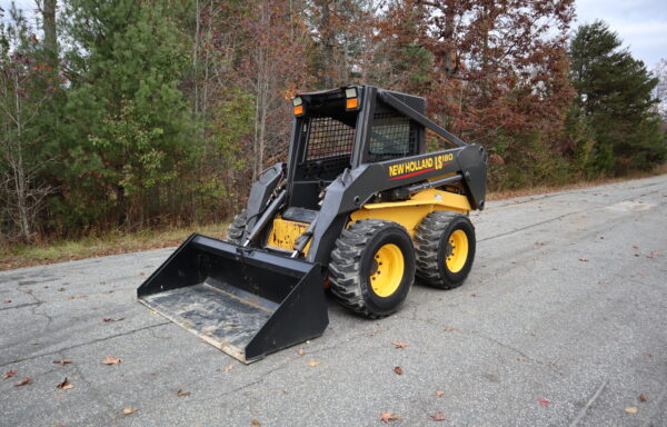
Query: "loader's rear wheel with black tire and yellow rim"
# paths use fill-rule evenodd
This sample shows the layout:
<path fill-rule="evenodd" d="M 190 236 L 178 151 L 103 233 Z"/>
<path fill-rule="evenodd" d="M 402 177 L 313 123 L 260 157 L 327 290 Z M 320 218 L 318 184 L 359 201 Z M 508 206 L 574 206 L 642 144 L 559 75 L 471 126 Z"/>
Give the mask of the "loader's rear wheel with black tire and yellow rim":
<path fill-rule="evenodd" d="M 415 232 L 417 277 L 437 288 L 461 286 L 472 268 L 475 247 L 468 217 L 445 210 L 427 215 Z"/>

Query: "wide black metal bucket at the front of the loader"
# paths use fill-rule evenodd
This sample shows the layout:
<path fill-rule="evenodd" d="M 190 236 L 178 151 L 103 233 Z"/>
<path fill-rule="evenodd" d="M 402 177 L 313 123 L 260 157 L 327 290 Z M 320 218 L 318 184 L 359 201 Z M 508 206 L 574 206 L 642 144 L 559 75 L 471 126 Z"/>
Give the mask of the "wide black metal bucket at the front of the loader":
<path fill-rule="evenodd" d="M 320 336 L 317 264 L 190 236 L 137 290 L 139 301 L 242 363 Z"/>

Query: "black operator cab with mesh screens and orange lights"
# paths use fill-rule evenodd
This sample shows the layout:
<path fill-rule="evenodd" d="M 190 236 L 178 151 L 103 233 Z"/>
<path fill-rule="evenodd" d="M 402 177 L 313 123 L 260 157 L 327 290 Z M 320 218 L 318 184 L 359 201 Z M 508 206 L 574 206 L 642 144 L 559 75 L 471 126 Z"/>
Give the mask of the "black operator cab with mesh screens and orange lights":
<path fill-rule="evenodd" d="M 426 111 L 424 98 L 391 93 L 416 111 Z M 425 152 L 424 127 L 382 102 L 375 87 L 308 92 L 292 102 L 286 219 L 310 222 L 323 190 L 345 169 Z"/>

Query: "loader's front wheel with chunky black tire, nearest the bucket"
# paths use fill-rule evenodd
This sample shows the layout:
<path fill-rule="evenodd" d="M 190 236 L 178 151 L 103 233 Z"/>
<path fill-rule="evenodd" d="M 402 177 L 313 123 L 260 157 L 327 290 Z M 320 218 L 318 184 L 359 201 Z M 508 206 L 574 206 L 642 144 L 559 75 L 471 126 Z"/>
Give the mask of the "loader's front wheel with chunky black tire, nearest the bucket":
<path fill-rule="evenodd" d="M 331 292 L 345 307 L 369 318 L 395 312 L 415 282 L 415 249 L 406 229 L 380 219 L 352 222 L 329 264 Z"/>

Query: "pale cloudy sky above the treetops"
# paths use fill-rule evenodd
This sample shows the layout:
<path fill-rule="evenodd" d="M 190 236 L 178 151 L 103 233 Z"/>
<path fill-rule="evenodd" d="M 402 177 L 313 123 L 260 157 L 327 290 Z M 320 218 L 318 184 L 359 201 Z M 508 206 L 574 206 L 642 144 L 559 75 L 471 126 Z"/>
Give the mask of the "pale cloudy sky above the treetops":
<path fill-rule="evenodd" d="M 10 0 L 0 0 L 3 9 Z M 20 8 L 34 10 L 33 0 L 17 0 Z M 618 33 L 624 47 L 649 69 L 667 59 L 667 0 L 576 0 L 577 23 L 603 19 Z"/>

